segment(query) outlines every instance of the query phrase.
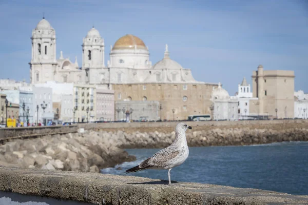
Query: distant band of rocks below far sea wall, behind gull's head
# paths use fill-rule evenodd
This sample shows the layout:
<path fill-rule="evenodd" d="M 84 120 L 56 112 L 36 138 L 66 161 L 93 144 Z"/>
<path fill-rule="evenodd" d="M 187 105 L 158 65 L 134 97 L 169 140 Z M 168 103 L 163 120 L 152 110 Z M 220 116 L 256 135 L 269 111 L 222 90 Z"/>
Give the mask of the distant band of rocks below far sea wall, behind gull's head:
<path fill-rule="evenodd" d="M 159 131 L 155 131 L 159 130 Z M 175 139 L 174 128 L 149 128 L 139 132 L 99 130 L 112 136 L 112 144 L 120 148 L 163 148 Z M 308 123 L 247 126 L 200 126 L 186 131 L 188 146 L 228 146 L 268 144 L 282 141 L 308 141 Z"/>

